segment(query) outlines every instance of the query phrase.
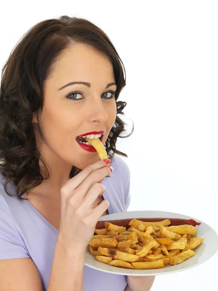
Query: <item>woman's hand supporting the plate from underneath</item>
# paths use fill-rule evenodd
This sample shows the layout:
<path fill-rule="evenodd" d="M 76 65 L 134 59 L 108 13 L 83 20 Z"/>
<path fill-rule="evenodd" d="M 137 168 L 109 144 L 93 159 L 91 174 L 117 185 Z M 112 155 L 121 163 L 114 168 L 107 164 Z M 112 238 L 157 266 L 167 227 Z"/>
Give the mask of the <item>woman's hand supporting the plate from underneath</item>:
<path fill-rule="evenodd" d="M 127 283 L 132 291 L 149 291 L 155 276 L 127 276 Z"/>

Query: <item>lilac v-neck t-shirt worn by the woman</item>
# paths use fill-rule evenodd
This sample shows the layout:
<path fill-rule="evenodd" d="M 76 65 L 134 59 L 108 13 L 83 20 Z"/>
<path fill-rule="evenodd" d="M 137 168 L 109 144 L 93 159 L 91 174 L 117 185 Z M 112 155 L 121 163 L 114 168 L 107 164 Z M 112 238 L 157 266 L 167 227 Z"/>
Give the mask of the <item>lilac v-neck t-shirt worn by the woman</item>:
<path fill-rule="evenodd" d="M 109 214 L 127 211 L 130 203 L 129 168 L 117 154 L 111 165 L 114 168 L 111 178 L 102 182 L 106 187 L 103 197 L 110 203 Z M 20 202 L 8 196 L 3 179 L 0 174 L 0 259 L 31 258 L 47 291 L 59 231 L 28 200 Z M 10 193 L 15 191 L 12 182 L 7 187 Z M 126 275 L 101 272 L 84 265 L 83 291 L 124 291 L 126 285 Z"/>

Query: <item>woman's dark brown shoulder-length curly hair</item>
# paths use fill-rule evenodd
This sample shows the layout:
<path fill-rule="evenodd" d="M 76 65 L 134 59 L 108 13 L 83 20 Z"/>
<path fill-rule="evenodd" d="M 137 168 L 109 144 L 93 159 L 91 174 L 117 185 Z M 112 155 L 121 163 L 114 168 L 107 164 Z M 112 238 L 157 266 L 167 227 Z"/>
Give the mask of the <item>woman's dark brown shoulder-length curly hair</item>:
<path fill-rule="evenodd" d="M 117 84 L 117 116 L 105 145 L 109 159 L 115 153 L 128 157 L 116 149 L 117 138 L 130 136 L 134 129 L 133 125 L 129 135 L 121 135 L 126 124 L 118 114 L 124 114 L 122 111 L 126 102 L 117 99 L 125 87 L 125 67 L 123 71 L 123 62 L 109 37 L 99 27 L 83 18 L 60 16 L 58 19 L 41 21 L 21 38 L 1 72 L 0 173 L 5 180 L 5 192 L 9 196 L 16 195 L 20 201 L 27 200 L 21 196 L 28 195 L 49 177 L 45 161 L 36 145 L 32 118 L 33 113 L 38 118 L 38 111 L 43 109 L 44 83 L 52 75 L 54 63 L 63 50 L 72 47 L 72 41 L 89 45 L 103 53 L 113 65 Z M 47 178 L 40 172 L 39 159 L 47 170 Z M 70 178 L 81 171 L 72 166 Z M 11 194 L 6 189 L 11 181 L 16 185 L 16 194 Z"/>

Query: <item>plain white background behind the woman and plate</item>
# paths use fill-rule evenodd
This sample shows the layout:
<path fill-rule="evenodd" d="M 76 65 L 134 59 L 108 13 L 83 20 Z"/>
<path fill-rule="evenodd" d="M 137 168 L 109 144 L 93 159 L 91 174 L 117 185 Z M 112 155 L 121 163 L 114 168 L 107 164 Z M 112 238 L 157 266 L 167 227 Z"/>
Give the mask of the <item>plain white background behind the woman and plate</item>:
<path fill-rule="evenodd" d="M 218 232 L 218 1 L 4 1 L 0 65 L 34 24 L 62 15 L 102 28 L 126 70 L 117 149 L 131 171 L 128 210 L 164 210 Z M 202 265 L 156 276 L 151 291 L 218 290 L 218 252 Z"/>

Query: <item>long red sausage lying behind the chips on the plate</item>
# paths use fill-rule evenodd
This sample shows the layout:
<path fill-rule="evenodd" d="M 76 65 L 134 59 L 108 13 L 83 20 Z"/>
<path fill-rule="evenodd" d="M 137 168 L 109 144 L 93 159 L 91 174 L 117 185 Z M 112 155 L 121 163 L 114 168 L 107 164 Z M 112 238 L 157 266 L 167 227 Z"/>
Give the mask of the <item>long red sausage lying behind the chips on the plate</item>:
<path fill-rule="evenodd" d="M 135 218 L 135 217 L 134 217 Z M 125 226 L 126 230 L 130 227 L 129 222 L 134 218 L 126 218 L 126 219 L 115 219 L 115 220 L 102 220 L 98 221 L 95 229 L 105 228 L 105 222 L 112 223 L 116 226 Z M 157 222 L 165 219 L 170 219 L 170 226 L 180 226 L 180 225 L 192 225 L 192 226 L 200 226 L 200 222 L 196 222 L 194 219 L 184 219 L 184 218 L 135 218 L 137 220 L 141 220 L 143 222 Z"/>

